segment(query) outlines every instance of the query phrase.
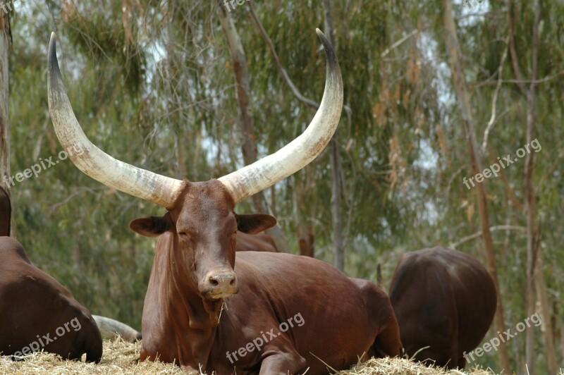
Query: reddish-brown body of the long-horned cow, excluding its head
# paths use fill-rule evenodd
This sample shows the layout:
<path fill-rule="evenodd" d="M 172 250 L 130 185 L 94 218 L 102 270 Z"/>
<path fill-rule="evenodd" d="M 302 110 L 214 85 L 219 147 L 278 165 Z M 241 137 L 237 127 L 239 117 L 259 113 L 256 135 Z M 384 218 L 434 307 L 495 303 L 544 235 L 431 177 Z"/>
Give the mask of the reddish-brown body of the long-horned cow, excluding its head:
<path fill-rule="evenodd" d="M 168 237 L 163 235 L 164 241 Z M 400 354 L 391 304 L 372 283 L 359 288 L 329 264 L 309 257 L 241 252 L 235 261 L 240 292 L 224 300 L 218 324 L 221 302 L 204 301 L 185 290 L 176 276 L 159 275 L 171 250 L 165 245 L 155 259 L 152 281 L 161 283 L 151 283 L 145 297 L 142 359 L 159 355 L 164 362 L 176 361 L 188 369 L 202 364 L 217 374 L 233 374 L 235 369 L 238 374 L 297 374 L 307 367 L 307 374 L 327 374 L 319 359 L 334 369 L 348 369 L 364 353 Z M 164 288 L 170 294 L 163 296 Z M 155 303 L 159 296 L 160 303 Z M 297 314 L 302 326 L 282 333 L 280 324 Z M 274 338 L 268 333 L 273 328 Z M 260 351 L 255 347 L 239 355 L 240 348 L 264 337 L 269 341 Z"/>

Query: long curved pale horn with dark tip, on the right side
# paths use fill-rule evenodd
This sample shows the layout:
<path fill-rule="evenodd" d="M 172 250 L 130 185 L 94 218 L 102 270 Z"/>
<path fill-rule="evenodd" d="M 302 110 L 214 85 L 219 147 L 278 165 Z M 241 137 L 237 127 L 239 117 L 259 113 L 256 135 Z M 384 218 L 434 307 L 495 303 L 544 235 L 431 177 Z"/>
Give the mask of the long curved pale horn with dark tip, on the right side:
<path fill-rule="evenodd" d="M 326 147 L 333 137 L 343 109 L 343 80 L 341 69 L 331 43 L 316 29 L 325 49 L 326 82 L 321 106 L 307 129 L 295 140 L 274 154 L 238 171 L 219 178 L 233 195 L 235 203 L 274 185 L 307 166 Z"/>

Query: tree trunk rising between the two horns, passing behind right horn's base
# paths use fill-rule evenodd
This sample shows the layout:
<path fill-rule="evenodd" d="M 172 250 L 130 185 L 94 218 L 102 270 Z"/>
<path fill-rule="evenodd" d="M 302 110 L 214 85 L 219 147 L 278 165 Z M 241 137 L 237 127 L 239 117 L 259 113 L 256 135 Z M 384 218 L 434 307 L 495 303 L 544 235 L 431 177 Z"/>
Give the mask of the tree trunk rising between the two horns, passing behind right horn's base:
<path fill-rule="evenodd" d="M 243 162 L 249 165 L 257 161 L 257 145 L 255 144 L 255 124 L 252 121 L 250 112 L 250 83 L 249 69 L 247 67 L 247 58 L 243 44 L 231 17 L 225 6 L 218 1 L 217 13 L 221 27 L 227 38 L 227 44 L 231 51 L 231 60 L 233 62 L 233 73 L 237 82 L 237 103 L 239 107 L 239 131 L 241 134 L 241 149 L 243 151 Z M 264 192 L 258 192 L 252 196 L 253 207 L 257 212 L 269 212 Z M 284 234 L 279 226 L 266 230 L 276 242 L 276 247 L 281 252 L 288 252 L 288 242 L 284 238 Z"/>

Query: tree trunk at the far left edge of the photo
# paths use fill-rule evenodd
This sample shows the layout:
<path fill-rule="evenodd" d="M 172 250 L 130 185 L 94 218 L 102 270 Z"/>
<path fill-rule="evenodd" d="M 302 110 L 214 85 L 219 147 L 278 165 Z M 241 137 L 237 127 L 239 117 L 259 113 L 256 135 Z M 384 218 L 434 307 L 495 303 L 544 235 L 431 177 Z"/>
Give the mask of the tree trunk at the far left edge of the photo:
<path fill-rule="evenodd" d="M 11 42 L 10 19 L 0 12 L 0 186 L 10 195 L 10 126 L 8 123 L 8 52 Z M 13 221 L 11 228 L 13 230 Z"/>

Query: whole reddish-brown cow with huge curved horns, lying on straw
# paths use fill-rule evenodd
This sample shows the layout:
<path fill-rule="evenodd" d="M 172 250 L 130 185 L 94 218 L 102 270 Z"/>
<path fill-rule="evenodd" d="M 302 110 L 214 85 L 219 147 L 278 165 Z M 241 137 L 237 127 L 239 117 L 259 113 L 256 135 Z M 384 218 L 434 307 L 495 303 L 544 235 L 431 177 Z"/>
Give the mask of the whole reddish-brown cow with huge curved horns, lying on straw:
<path fill-rule="evenodd" d="M 137 233 L 160 235 L 143 309 L 142 360 L 160 357 L 195 374 L 294 374 L 307 367 L 308 374 L 323 374 L 326 366 L 347 369 L 358 357 L 399 354 L 396 318 L 376 285 L 309 257 L 239 252 L 235 260 L 237 230 L 253 234 L 276 225 L 269 215 L 235 214 L 235 204 L 317 157 L 341 117 L 341 71 L 333 47 L 317 33 L 326 86 L 305 132 L 250 166 L 198 183 L 136 168 L 92 145 L 66 95 L 51 35 L 49 109 L 61 145 L 85 147 L 71 160 L 88 176 L 167 209 L 130 223 Z"/>

